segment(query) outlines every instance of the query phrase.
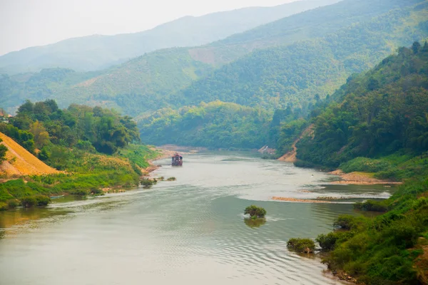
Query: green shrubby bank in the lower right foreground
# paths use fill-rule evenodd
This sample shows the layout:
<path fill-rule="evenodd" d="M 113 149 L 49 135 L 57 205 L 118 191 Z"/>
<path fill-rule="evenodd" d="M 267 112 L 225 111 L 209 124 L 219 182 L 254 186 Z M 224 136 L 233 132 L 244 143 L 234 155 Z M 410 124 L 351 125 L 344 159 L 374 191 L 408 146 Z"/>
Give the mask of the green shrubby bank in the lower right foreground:
<path fill-rule="evenodd" d="M 330 252 L 325 263 L 361 283 L 424 284 L 428 241 L 428 180 L 414 180 L 384 201 L 390 210 L 375 218 L 340 217 L 341 230 L 317 237 Z"/>

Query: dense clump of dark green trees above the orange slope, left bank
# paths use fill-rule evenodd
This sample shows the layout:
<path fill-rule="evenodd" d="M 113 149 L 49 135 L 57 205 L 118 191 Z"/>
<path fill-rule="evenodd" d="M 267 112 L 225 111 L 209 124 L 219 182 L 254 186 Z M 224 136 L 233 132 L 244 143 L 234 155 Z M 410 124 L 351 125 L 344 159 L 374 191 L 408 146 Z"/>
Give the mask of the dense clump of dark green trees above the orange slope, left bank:
<path fill-rule="evenodd" d="M 53 143 L 83 149 L 95 147 L 98 152 L 113 154 L 118 148 L 140 140 L 131 117 L 85 105 L 70 105 L 61 110 L 54 100 L 36 103 L 27 100 L 10 124 L 0 124 L 0 131 L 30 152 Z"/>

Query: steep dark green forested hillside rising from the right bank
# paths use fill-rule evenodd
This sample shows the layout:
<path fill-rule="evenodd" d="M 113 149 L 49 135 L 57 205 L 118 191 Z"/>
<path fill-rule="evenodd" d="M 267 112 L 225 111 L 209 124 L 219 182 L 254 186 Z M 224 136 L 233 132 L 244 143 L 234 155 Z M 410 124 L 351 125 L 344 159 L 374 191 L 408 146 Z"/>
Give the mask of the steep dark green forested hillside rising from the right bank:
<path fill-rule="evenodd" d="M 298 159 L 335 168 L 355 157 L 427 152 L 428 43 L 399 48 L 372 71 L 349 78 L 332 98 L 336 101 L 312 119 L 313 135 L 297 144 Z M 389 168 L 389 162 L 358 161 Z M 399 177 L 394 171 L 381 175 Z"/>

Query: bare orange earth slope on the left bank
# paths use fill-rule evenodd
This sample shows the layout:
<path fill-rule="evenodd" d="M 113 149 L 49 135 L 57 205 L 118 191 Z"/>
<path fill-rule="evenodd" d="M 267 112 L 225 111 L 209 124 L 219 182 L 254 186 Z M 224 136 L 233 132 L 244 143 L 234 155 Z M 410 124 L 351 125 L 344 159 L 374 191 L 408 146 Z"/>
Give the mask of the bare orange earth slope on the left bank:
<path fill-rule="evenodd" d="M 0 164 L 0 175 L 44 175 L 56 174 L 58 170 L 49 167 L 39 158 L 32 155 L 24 147 L 9 138 L 4 133 L 0 133 L 0 142 L 8 149 L 6 160 Z"/>

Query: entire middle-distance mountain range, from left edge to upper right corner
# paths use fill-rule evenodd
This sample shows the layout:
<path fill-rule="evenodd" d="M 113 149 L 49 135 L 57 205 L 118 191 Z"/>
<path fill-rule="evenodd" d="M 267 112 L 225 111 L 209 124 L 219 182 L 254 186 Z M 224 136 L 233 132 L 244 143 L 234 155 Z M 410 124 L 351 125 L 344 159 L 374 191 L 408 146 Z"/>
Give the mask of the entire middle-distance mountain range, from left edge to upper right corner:
<path fill-rule="evenodd" d="M 414 9 L 416 2 L 420 5 Z M 426 1 L 376 3 L 345 0 L 231 36 L 224 43 L 156 51 L 96 74 L 69 72 L 60 81 L 56 75 L 51 81 L 38 80 L 38 74 L 4 77 L 0 105 L 55 98 L 61 106 L 101 104 L 131 115 L 217 99 L 280 108 L 290 100 L 330 93 L 350 73 L 370 68 L 397 46 L 427 36 Z M 292 43 L 299 39 L 307 41 Z M 213 66 L 200 62 L 228 61 L 261 47 L 260 41 L 264 47 L 285 46 L 255 51 L 213 73 Z M 237 45 L 244 49 L 236 52 Z M 57 72 L 63 73 L 44 73 Z"/>

